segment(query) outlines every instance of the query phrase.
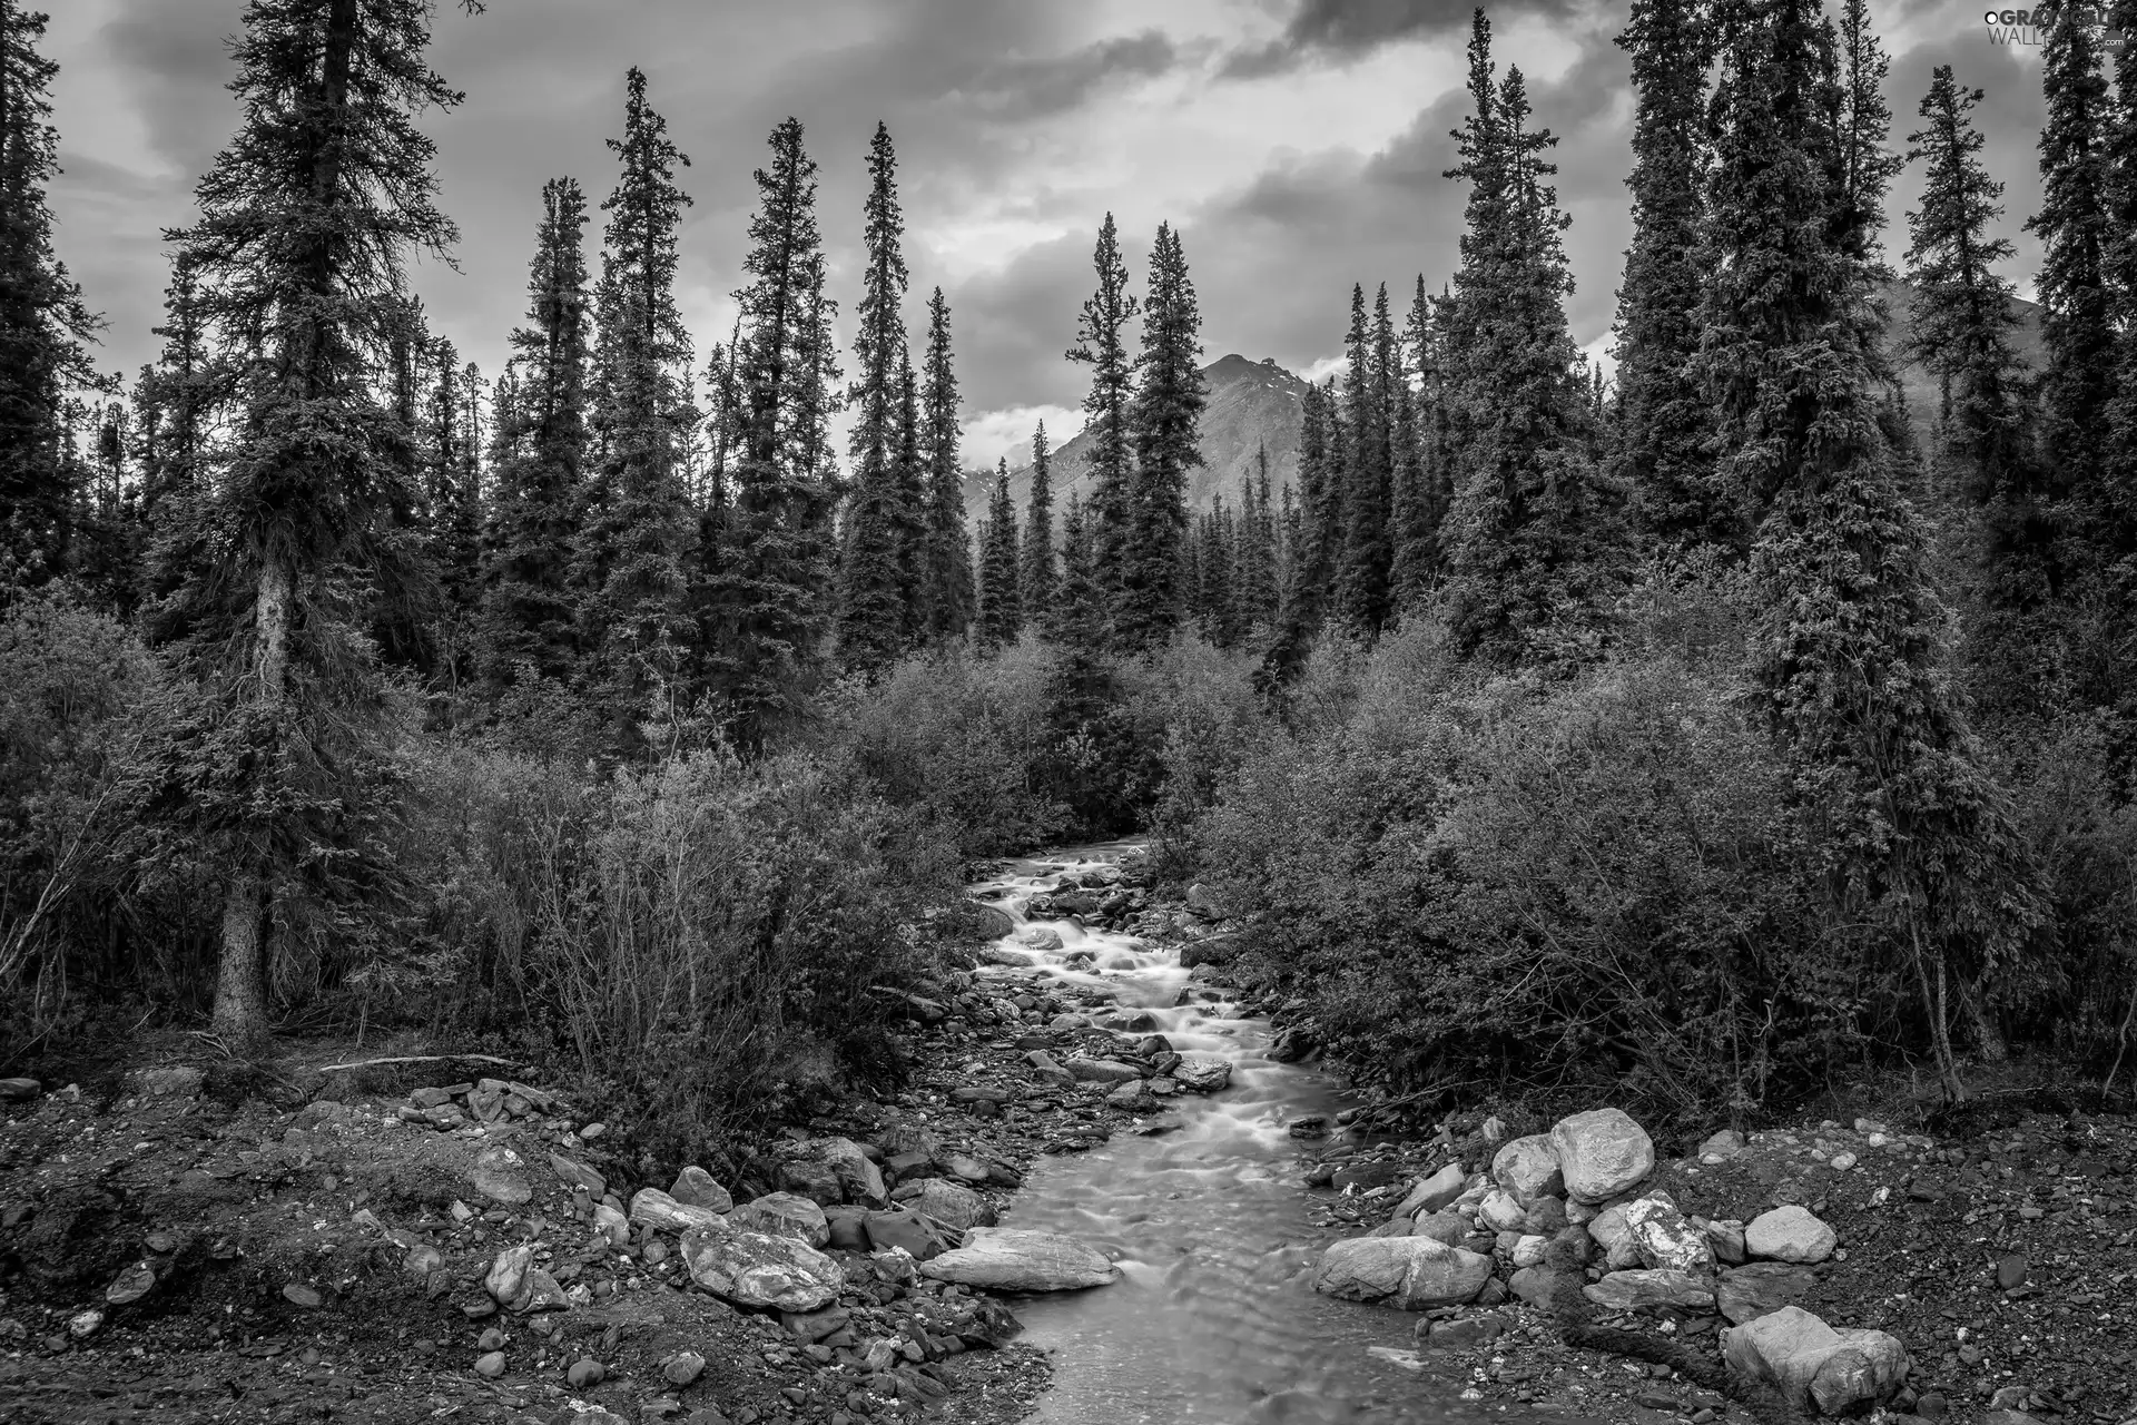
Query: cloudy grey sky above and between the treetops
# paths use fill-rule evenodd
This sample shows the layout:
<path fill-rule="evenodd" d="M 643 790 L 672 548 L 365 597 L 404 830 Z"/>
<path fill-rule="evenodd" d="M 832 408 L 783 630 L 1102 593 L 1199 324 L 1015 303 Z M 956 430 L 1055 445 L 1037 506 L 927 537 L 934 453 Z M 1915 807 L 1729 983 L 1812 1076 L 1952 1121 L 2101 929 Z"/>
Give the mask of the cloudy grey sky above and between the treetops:
<path fill-rule="evenodd" d="M 1836 0 L 1838 2 L 1838 0 Z M 190 218 L 199 175 L 229 141 L 229 36 L 244 0 L 58 0 L 56 244 L 107 316 L 100 370 L 156 353 L 162 231 Z M 1893 53 L 1893 145 L 1936 64 L 1987 90 L 1985 162 L 2009 184 L 2009 276 L 2030 293 L 2039 248 L 2039 51 L 1998 45 L 1968 0 L 1876 0 Z M 1500 64 L 1517 64 L 1537 122 L 1558 135 L 1573 226 L 1569 320 L 1611 344 L 1631 237 L 1624 175 L 1633 94 L 1613 45 L 1624 2 L 1487 4 Z M 1079 425 L 1088 367 L 1062 359 L 1092 288 L 1111 212 L 1141 286 L 1150 237 L 1186 248 L 1214 361 L 1336 365 L 1353 282 L 1387 282 L 1398 312 L 1423 273 L 1457 263 L 1464 190 L 1449 130 L 1466 113 L 1457 0 L 492 0 L 440 6 L 432 64 L 466 94 L 423 118 L 438 143 L 455 265 L 423 263 L 432 327 L 485 374 L 526 312 L 541 186 L 573 175 L 592 201 L 615 182 L 624 71 L 690 156 L 680 301 L 699 353 L 733 323 L 754 205 L 752 169 L 786 115 L 821 165 L 818 222 L 851 344 L 859 299 L 863 158 L 876 122 L 898 147 L 915 338 L 942 286 L 964 385 L 966 461 L 1015 459 L 1034 421 L 1056 444 Z M 1889 252 L 1919 165 L 1898 184 Z M 851 367 L 851 357 L 846 359 Z"/>

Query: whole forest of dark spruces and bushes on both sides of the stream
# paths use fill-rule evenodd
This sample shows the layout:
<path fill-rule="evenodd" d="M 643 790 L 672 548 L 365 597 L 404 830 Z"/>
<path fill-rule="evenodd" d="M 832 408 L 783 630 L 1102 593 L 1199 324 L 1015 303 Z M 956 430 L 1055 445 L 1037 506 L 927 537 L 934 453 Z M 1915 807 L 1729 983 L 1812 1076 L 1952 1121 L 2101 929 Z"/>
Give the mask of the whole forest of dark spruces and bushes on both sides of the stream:
<path fill-rule="evenodd" d="M 878 996 L 960 934 L 968 867 L 1141 833 L 1387 1100 L 1742 1119 L 2028 1055 L 2126 1100 L 2109 11 L 2045 21 L 2045 201 L 2007 214 L 1983 92 L 1887 92 L 1866 0 L 1633 0 L 1609 372 L 1477 11 L 1460 265 L 1357 273 L 1295 483 L 1190 508 L 1180 229 L 1137 280 L 1094 222 L 1060 314 L 1092 483 L 1056 502 L 1041 427 L 1019 502 L 960 451 L 891 132 L 840 194 L 810 145 L 859 135 L 769 132 L 739 320 L 692 333 L 690 158 L 637 68 L 611 171 L 541 190 L 511 361 L 462 361 L 408 278 L 457 241 L 432 0 L 250 0 L 162 353 L 100 380 L 45 17 L 0 0 L 0 1070 L 143 1023 L 419 1036 L 718 1139 L 898 1081 Z"/>

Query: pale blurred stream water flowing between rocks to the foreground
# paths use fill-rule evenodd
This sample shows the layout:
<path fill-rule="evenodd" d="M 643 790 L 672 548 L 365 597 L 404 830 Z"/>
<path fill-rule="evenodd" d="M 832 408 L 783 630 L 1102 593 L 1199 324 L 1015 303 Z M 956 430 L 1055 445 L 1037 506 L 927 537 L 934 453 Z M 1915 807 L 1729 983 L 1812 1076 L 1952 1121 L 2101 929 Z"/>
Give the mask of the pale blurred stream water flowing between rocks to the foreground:
<path fill-rule="evenodd" d="M 1321 1248 L 1299 1186 L 1299 1143 L 1286 1124 L 1344 1107 L 1327 1075 L 1269 1060 L 1269 1025 L 1205 998 L 1171 951 L 1077 921 L 1032 919 L 1034 895 L 1062 872 L 1118 861 L 1126 846 L 1013 863 L 974 895 L 1009 912 L 1015 931 L 996 949 L 1041 974 L 1101 987 L 1122 1006 L 1148 1008 L 1188 1060 L 1225 1058 L 1231 1087 L 1180 1096 L 1169 1132 L 1116 1132 L 1075 1156 L 1043 1158 L 1004 1226 L 1081 1237 L 1118 1258 L 1122 1280 L 1083 1293 L 1024 1297 L 1026 1340 L 1054 1352 L 1045 1425 L 1263 1425 L 1276 1421 L 1481 1419 L 1462 1382 L 1419 1359 L 1417 1316 L 1333 1301 L 1310 1288 Z M 1030 927 L 1060 936 L 1060 951 L 1028 944 Z M 1071 966 L 1079 951 L 1090 961 Z M 1015 974 L 1015 970 L 992 970 Z M 1182 991 L 1188 989 L 1184 996 Z M 1182 1000 L 1188 1000 L 1182 1004 Z M 1423 1367 L 1423 1369 L 1421 1369 Z M 1494 1419 L 1504 1419 L 1494 1412 Z"/>

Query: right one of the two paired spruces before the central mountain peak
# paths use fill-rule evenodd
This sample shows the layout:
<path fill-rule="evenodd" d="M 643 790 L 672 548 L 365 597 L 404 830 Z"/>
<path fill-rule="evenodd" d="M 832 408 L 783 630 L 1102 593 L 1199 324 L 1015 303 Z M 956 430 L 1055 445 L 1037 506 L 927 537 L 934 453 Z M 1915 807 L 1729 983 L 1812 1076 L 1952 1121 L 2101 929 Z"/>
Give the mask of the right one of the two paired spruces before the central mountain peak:
<path fill-rule="evenodd" d="M 1158 224 L 1150 246 L 1145 291 L 1143 348 L 1128 406 L 1135 476 L 1113 605 L 1113 637 L 1126 649 L 1154 647 L 1180 624 L 1188 474 L 1203 464 L 1201 412 L 1210 402 L 1201 374 L 1201 308 L 1180 233 L 1169 222 Z"/>

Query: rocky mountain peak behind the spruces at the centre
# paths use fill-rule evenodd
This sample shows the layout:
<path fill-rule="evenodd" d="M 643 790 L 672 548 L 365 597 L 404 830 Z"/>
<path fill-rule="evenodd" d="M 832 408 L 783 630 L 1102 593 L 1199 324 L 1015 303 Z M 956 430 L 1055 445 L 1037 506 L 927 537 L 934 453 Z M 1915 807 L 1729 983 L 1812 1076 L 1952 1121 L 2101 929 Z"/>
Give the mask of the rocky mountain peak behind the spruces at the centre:
<path fill-rule="evenodd" d="M 1254 453 L 1269 447 L 1269 489 L 1291 485 L 1299 476 L 1299 406 L 1306 380 L 1269 359 L 1222 357 L 1203 367 L 1210 382 L 1210 404 L 1201 419 L 1203 466 L 1190 472 L 1188 508 L 1197 515 L 1210 508 L 1210 496 L 1225 496 L 1237 508 L 1239 487 L 1254 470 Z M 1090 502 L 1090 440 L 1079 432 L 1054 449 L 1054 521 L 1068 494 Z M 974 470 L 964 476 L 964 513 L 972 528 L 987 515 L 994 472 Z M 1009 472 L 1009 494 L 1017 502 L 1017 519 L 1032 498 L 1032 468 Z"/>

